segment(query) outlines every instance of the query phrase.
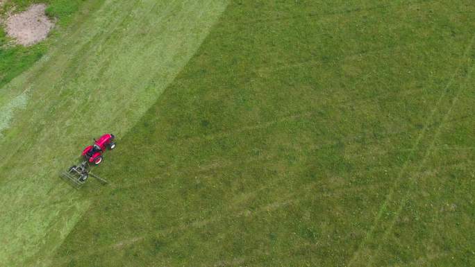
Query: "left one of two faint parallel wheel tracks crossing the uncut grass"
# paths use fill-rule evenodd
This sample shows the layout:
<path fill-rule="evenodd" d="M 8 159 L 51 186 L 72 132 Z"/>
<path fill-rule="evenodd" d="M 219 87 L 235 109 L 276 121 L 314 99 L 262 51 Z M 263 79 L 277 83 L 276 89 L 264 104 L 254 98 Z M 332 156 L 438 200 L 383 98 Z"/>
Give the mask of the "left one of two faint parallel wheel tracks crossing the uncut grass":
<path fill-rule="evenodd" d="M 470 40 L 469 45 L 467 46 L 467 49 L 465 49 L 465 53 L 463 54 L 462 58 L 467 58 L 467 55 L 469 54 L 469 52 L 472 49 L 472 44 L 474 44 L 474 40 L 475 40 L 475 35 L 472 37 L 472 40 Z M 354 261 L 356 259 L 358 259 L 359 255 L 360 255 L 361 248 L 363 248 L 363 246 L 366 244 L 366 242 L 372 237 L 372 234 L 374 233 L 374 230 L 376 230 L 376 226 L 378 226 L 378 223 L 379 223 L 379 221 L 381 220 L 381 218 L 383 216 L 383 212 L 385 211 L 385 209 L 387 209 L 387 205 L 389 205 L 390 200 L 392 199 L 392 196 L 394 195 L 395 188 L 399 184 L 399 181 L 401 180 L 401 178 L 403 176 L 403 173 L 406 172 L 406 168 L 408 167 L 408 164 L 409 164 L 412 156 L 414 155 L 414 151 L 416 151 L 417 146 L 419 146 L 419 142 L 422 140 L 422 138 L 426 134 L 426 131 L 428 130 L 428 126 L 430 125 L 430 122 L 433 121 L 433 117 L 435 115 L 435 112 L 437 112 L 440 103 L 442 103 L 442 99 L 446 96 L 447 92 L 449 92 L 449 87 L 454 82 L 455 77 L 458 74 L 458 71 L 460 71 L 460 69 L 462 68 L 462 66 L 463 66 L 463 64 L 460 64 L 460 66 L 456 69 L 456 71 L 451 76 L 451 78 L 449 80 L 449 83 L 447 83 L 447 85 L 444 87 L 444 91 L 442 92 L 442 95 L 440 96 L 440 98 L 438 98 L 437 103 L 435 103 L 435 107 L 431 111 L 431 114 L 429 114 L 429 117 L 426 121 L 426 125 L 424 126 L 424 129 L 422 129 L 422 132 L 417 137 L 414 146 L 412 146 L 412 150 L 410 151 L 410 154 L 408 156 L 408 160 L 406 160 L 406 162 L 404 162 L 404 164 L 401 168 L 401 171 L 397 175 L 397 178 L 394 180 L 394 183 L 392 184 L 392 187 L 390 187 L 390 192 L 387 193 L 387 197 L 386 197 L 383 205 L 381 205 L 381 208 L 379 209 L 379 212 L 376 215 L 376 218 L 374 219 L 374 223 L 373 223 L 372 227 L 367 232 L 367 234 L 366 234 L 365 238 L 363 239 L 363 241 L 360 242 L 360 244 L 358 245 L 358 248 L 356 249 L 356 251 L 353 253 L 353 257 L 351 257 L 351 259 L 348 263 L 348 266 L 353 266 Z"/>

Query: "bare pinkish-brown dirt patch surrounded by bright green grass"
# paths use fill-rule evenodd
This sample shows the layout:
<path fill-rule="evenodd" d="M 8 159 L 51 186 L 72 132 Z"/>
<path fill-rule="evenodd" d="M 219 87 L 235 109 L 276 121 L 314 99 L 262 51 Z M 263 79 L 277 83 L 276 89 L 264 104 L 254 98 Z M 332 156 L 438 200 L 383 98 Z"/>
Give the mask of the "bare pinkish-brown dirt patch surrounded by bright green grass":
<path fill-rule="evenodd" d="M 54 22 L 44 15 L 46 7 L 39 3 L 24 12 L 10 15 L 6 20 L 7 35 L 24 46 L 31 46 L 44 40 L 54 26 Z"/>

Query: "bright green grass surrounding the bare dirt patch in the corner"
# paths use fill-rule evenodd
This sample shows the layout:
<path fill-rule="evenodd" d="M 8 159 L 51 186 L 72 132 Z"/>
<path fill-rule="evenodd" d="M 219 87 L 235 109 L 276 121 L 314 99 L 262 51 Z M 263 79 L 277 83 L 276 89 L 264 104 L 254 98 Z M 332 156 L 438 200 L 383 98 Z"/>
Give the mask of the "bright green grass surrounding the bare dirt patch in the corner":
<path fill-rule="evenodd" d="M 0 15 L 4 16 L 8 10 L 20 12 L 33 3 L 45 3 L 48 6 L 47 15 L 56 19 L 58 26 L 65 27 L 85 1 L 87 0 L 11 0 L 6 2 L 3 9 L 0 8 Z M 50 33 L 55 34 L 54 30 Z M 48 40 L 28 47 L 13 45 L 10 41 L 3 26 L 0 26 L 0 87 L 37 62 L 47 53 L 49 46 Z"/>

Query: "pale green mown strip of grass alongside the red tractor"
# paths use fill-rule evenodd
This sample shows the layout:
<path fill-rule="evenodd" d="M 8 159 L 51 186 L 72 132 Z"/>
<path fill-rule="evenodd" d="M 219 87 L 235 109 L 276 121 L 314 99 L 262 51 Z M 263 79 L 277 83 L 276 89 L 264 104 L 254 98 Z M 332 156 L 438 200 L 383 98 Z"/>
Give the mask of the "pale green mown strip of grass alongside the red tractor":
<path fill-rule="evenodd" d="M 28 97 L 35 101 L 15 112 L 0 140 L 12 151 L 0 156 L 0 200 L 9 203 L 0 213 L 11 214 L 0 218 L 0 243 L 8 248 L 0 251 L 0 266 L 48 265 L 90 205 L 88 196 L 61 184 L 55 170 L 76 159 L 86 137 L 104 129 L 127 132 L 187 64 L 227 4 L 106 1 L 8 85 L 12 91 L 31 85 Z M 128 28 L 121 28 L 126 22 Z M 70 208 L 76 199 L 83 200 Z"/>

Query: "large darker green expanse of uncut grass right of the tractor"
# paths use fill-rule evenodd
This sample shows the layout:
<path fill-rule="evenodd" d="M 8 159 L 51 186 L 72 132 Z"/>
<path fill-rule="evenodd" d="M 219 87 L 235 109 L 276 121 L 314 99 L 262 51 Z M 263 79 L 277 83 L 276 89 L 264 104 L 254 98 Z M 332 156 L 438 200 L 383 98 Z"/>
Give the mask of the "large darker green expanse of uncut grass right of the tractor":
<path fill-rule="evenodd" d="M 53 266 L 473 266 L 467 9 L 232 1 Z"/>

